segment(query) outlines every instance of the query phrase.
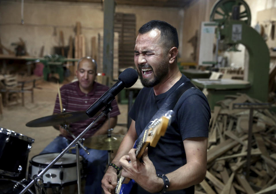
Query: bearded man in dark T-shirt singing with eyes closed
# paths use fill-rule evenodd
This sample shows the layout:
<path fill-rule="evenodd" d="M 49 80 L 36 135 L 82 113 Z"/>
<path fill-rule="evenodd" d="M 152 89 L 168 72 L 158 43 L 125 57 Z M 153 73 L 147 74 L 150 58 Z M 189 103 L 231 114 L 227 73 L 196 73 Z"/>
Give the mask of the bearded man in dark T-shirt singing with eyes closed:
<path fill-rule="evenodd" d="M 131 194 L 190 194 L 205 177 L 210 108 L 198 88 L 179 91 L 189 85 L 189 79 L 177 66 L 178 45 L 177 30 L 164 21 L 152 20 L 139 29 L 134 63 L 145 87 L 129 112 L 132 122 L 112 160 L 114 165 L 102 179 L 105 194 L 114 193 L 120 168 L 123 177 L 137 183 Z M 182 94 L 179 101 L 172 98 L 177 93 Z M 143 136 L 143 129 L 156 119 L 156 113 L 171 102 L 175 102 L 175 115 L 166 133 L 156 147 L 146 148 L 142 161 L 137 159 L 135 149 L 131 149 L 135 140 Z"/>

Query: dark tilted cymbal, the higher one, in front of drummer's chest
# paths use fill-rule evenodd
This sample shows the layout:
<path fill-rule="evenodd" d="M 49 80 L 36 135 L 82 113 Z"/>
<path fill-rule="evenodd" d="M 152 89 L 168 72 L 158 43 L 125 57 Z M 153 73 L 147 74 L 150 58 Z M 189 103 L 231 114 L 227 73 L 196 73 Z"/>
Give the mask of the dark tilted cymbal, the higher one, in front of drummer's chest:
<path fill-rule="evenodd" d="M 89 116 L 85 111 L 76 111 L 76 112 L 64 112 L 60 114 L 53 114 L 50 116 L 45 116 L 31 120 L 26 123 L 27 127 L 47 127 L 55 126 L 63 123 L 74 123 L 80 120 L 86 120 Z"/>

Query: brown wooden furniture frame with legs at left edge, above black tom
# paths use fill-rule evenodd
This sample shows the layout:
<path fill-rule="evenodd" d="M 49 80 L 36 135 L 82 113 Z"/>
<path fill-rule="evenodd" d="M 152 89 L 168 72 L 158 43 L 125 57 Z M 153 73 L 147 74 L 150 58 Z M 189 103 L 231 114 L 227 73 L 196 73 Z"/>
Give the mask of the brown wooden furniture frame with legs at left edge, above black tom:
<path fill-rule="evenodd" d="M 4 82 L 0 82 L 0 92 L 3 93 L 4 105 L 9 106 L 9 100 L 15 98 L 18 102 L 21 93 L 21 103 L 24 106 L 24 93 L 31 94 L 31 102 L 34 102 L 33 86 L 26 86 L 26 82 L 18 82 L 16 76 L 4 76 Z"/>

